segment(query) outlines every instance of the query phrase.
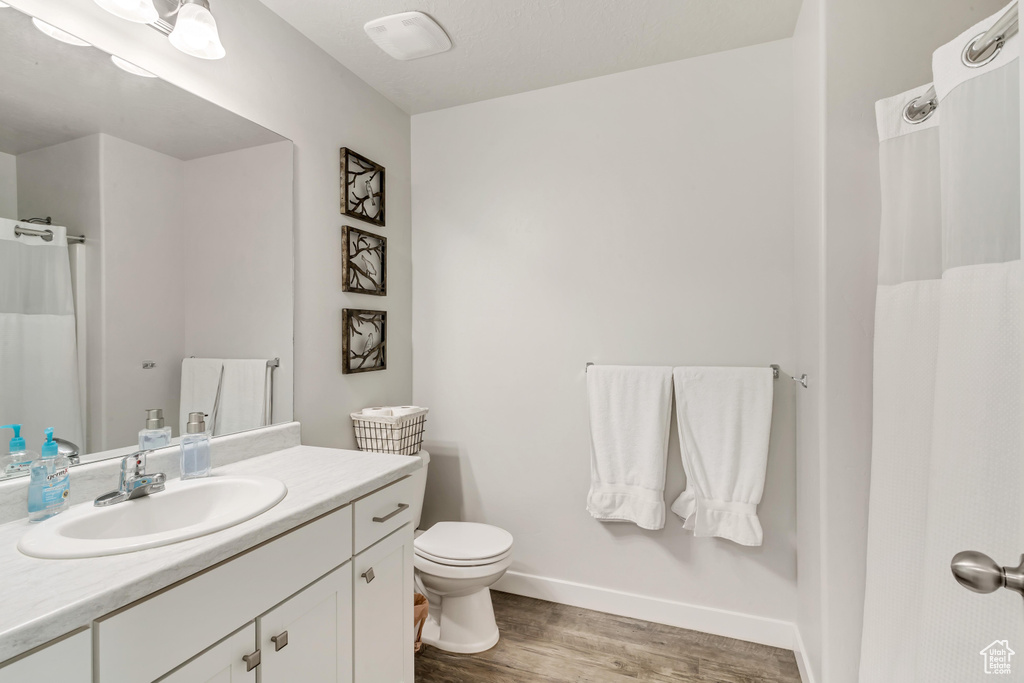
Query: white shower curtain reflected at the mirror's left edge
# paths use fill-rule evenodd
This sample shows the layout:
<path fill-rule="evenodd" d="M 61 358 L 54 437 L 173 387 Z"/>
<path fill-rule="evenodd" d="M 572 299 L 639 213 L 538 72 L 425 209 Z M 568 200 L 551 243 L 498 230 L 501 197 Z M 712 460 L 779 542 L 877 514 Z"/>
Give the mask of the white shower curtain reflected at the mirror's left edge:
<path fill-rule="evenodd" d="M 0 424 L 24 425 L 36 453 L 46 427 L 84 447 L 67 230 L 46 243 L 15 224 L 0 218 Z"/>

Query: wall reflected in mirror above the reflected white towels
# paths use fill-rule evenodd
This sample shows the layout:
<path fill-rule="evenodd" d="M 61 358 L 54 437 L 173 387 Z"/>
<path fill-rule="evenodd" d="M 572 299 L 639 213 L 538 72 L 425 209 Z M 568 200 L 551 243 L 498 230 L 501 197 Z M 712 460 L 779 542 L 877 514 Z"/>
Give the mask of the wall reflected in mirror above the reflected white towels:
<path fill-rule="evenodd" d="M 274 422 L 292 419 L 295 376 L 292 157 L 283 141 L 183 165 L 185 355 L 280 357 Z"/>

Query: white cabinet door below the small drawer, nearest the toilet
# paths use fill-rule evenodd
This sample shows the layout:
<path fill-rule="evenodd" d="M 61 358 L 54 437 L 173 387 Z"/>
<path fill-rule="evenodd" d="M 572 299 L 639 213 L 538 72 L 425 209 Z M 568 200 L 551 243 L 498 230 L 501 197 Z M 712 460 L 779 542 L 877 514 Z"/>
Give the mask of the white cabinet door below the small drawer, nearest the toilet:
<path fill-rule="evenodd" d="M 355 683 L 413 683 L 413 527 L 355 556 Z"/>

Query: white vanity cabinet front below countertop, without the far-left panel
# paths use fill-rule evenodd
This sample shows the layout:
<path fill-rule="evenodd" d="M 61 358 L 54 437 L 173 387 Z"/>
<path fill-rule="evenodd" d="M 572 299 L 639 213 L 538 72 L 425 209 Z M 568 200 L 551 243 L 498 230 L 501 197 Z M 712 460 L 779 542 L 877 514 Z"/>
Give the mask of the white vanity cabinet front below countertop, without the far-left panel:
<path fill-rule="evenodd" d="M 84 671 L 93 683 L 414 683 L 409 493 L 407 477 L 96 620 Z"/>

